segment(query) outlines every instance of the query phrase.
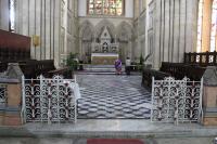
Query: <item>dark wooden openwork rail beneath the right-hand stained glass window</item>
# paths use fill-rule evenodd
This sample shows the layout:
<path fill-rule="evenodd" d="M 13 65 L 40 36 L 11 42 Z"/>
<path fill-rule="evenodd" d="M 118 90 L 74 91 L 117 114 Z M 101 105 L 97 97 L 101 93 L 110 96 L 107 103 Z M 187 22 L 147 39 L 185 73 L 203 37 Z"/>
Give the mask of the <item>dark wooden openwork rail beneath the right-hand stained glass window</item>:
<path fill-rule="evenodd" d="M 184 63 L 203 67 L 217 66 L 217 52 L 184 53 Z"/>

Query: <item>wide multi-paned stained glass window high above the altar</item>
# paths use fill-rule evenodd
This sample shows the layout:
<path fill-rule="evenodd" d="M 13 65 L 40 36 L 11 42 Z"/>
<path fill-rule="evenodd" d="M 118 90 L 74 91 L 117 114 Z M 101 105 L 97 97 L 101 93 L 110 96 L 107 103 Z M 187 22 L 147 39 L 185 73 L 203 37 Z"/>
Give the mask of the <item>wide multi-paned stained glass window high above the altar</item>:
<path fill-rule="evenodd" d="M 124 0 L 88 0 L 89 15 L 117 15 L 124 14 Z"/>

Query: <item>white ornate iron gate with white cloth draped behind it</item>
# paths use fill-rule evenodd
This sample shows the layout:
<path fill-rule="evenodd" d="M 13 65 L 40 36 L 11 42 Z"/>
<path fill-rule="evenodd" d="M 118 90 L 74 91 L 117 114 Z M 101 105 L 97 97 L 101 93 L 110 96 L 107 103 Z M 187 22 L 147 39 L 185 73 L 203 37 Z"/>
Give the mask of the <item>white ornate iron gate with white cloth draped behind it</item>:
<path fill-rule="evenodd" d="M 25 122 L 76 122 L 76 80 L 61 76 L 37 79 L 23 77 L 23 117 Z"/>

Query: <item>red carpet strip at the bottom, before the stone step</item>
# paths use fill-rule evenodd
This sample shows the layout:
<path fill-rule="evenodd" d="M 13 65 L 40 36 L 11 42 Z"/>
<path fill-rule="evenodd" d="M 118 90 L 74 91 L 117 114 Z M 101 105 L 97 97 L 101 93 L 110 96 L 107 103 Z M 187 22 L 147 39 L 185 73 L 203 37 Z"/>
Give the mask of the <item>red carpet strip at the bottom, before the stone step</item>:
<path fill-rule="evenodd" d="M 87 144 L 144 144 L 136 139 L 89 139 Z"/>

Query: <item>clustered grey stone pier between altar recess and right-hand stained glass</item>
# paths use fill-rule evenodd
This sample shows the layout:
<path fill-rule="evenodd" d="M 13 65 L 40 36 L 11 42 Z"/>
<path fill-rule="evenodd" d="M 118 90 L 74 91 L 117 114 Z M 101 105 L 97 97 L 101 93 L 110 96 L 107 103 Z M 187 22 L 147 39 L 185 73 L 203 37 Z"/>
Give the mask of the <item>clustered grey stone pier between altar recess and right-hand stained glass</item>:
<path fill-rule="evenodd" d="M 197 0 L 155 0 L 154 67 L 161 62 L 183 62 L 196 50 Z"/>

